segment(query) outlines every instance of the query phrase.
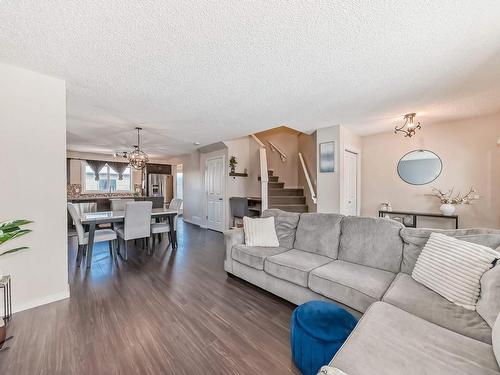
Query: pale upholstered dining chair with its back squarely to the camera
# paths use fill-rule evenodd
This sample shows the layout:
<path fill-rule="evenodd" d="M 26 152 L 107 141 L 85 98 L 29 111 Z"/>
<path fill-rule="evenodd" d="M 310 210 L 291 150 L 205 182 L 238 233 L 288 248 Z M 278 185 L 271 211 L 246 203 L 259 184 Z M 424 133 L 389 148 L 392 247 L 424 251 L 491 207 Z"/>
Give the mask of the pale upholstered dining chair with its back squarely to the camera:
<path fill-rule="evenodd" d="M 144 238 L 149 241 L 151 236 L 151 210 L 152 202 L 127 202 L 125 205 L 125 219 L 123 226 L 116 228 L 118 238 L 123 241 L 123 252 L 121 243 L 118 241 L 118 254 L 128 260 L 128 241 Z"/>

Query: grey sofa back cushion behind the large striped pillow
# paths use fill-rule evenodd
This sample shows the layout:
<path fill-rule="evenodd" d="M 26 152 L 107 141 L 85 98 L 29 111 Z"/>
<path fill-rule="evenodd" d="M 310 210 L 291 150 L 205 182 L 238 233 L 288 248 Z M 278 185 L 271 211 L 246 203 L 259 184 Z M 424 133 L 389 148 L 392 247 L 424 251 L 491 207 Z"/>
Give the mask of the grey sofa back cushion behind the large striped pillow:
<path fill-rule="evenodd" d="M 404 228 L 401 230 L 401 237 L 404 241 L 403 262 L 401 272 L 411 275 L 417 258 L 423 247 L 427 243 L 431 233 L 442 233 L 459 240 L 477 243 L 488 246 L 492 249 L 500 246 L 500 230 L 498 229 L 427 229 L 427 228 Z"/>

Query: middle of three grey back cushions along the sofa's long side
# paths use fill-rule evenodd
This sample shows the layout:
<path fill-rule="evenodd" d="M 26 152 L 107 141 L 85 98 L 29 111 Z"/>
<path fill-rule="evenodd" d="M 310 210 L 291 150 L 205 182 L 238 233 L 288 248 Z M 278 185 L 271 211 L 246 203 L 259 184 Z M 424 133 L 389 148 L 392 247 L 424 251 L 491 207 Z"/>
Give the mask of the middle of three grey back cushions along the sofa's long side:
<path fill-rule="evenodd" d="M 343 217 L 338 214 L 301 214 L 293 247 L 337 259 Z"/>

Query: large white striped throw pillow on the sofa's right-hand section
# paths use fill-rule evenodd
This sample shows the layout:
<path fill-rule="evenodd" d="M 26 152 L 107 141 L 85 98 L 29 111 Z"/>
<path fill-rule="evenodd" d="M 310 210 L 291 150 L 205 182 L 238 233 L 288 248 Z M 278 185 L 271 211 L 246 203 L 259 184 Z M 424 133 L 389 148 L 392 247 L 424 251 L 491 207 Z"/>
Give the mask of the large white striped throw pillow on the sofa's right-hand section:
<path fill-rule="evenodd" d="M 489 247 L 432 233 L 411 276 L 447 300 L 475 310 L 481 276 L 498 258 Z"/>

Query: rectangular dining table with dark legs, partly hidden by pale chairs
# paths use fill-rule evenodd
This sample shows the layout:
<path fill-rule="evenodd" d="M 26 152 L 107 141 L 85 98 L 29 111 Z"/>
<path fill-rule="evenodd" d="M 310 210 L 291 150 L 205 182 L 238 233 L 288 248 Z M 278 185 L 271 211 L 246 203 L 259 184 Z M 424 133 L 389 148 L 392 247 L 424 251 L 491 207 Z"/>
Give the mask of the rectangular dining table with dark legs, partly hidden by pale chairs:
<path fill-rule="evenodd" d="M 172 248 L 177 248 L 177 233 L 175 230 L 175 217 L 179 211 L 169 208 L 153 208 L 151 210 L 152 219 L 166 219 L 170 226 L 172 235 Z M 125 211 L 102 211 L 102 212 L 86 212 L 80 216 L 82 225 L 88 228 L 89 240 L 87 250 L 87 268 L 92 264 L 92 251 L 94 248 L 95 230 L 99 224 L 123 223 L 125 221 Z"/>

